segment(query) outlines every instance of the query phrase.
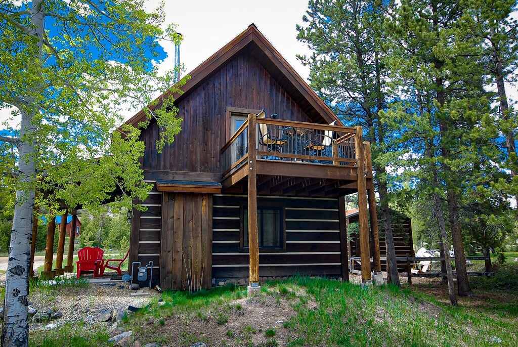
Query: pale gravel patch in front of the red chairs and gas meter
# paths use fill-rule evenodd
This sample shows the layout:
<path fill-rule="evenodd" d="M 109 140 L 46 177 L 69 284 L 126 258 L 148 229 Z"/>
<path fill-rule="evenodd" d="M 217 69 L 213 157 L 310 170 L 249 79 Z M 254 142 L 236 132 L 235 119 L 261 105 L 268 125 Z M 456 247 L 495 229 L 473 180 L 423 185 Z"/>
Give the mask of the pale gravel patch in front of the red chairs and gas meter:
<path fill-rule="evenodd" d="M 131 295 L 135 291 L 128 290 L 128 284 L 122 281 L 110 281 L 109 283 L 90 283 L 87 286 L 78 285 L 56 285 L 41 288 L 33 291 L 30 296 L 29 305 L 38 310 L 39 313 L 62 312 L 63 317 L 54 321 L 63 324 L 64 322 L 84 322 L 86 325 L 111 326 L 112 321 L 98 322 L 99 313 L 105 310 L 123 310 L 126 314 L 128 306 L 145 307 L 154 297 L 160 294 L 154 290 L 143 288 L 139 292 L 148 295 Z M 29 325 L 30 331 L 42 329 L 48 322 L 36 322 L 33 318 Z"/>

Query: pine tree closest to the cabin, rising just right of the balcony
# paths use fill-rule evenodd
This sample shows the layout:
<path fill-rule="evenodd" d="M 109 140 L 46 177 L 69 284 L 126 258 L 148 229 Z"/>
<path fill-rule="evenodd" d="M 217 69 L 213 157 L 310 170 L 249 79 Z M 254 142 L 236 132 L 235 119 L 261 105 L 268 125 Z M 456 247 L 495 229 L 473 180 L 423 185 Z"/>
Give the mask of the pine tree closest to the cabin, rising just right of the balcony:
<path fill-rule="evenodd" d="M 309 2 L 304 26 L 297 25 L 298 39 L 313 50 L 299 56 L 310 65 L 310 85 L 346 124 L 362 125 L 372 144 L 374 178 L 381 200 L 387 245 L 389 281 L 399 285 L 394 238 L 389 212 L 389 183 L 379 156 L 387 149 L 390 129 L 380 121 L 386 108 L 386 68 L 382 62 L 386 13 L 391 1 L 339 0 Z M 374 207 L 370 207 L 374 208 Z"/>

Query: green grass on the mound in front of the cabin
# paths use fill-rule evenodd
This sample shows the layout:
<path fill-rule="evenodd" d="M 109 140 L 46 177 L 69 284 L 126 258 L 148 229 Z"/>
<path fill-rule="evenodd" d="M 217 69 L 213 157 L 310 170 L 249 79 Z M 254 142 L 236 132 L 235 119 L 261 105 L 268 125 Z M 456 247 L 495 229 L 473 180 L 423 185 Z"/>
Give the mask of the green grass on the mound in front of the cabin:
<path fill-rule="evenodd" d="M 513 292 L 501 292 L 506 300 L 500 300 L 494 291 L 478 291 L 480 295 L 493 296 L 485 301 L 477 299 L 477 305 L 472 307 L 469 299 L 461 301 L 461 307 L 450 307 L 426 294 L 426 290 L 415 287 L 364 288 L 352 283 L 299 277 L 282 283 L 267 283 L 262 290 L 264 295 L 289 302 L 296 313 L 275 330 L 265 330 L 261 334 L 265 338 L 262 346 L 284 343 L 288 346 L 516 346 L 518 341 L 518 294 Z M 156 336 L 157 329 L 166 325 L 171 327 L 169 330 L 177 331 L 180 346 L 190 346 L 198 341 L 211 345 L 214 341 L 208 341 L 202 335 L 204 325 L 194 335 L 186 329 L 189 322 L 199 322 L 204 317 L 210 320 L 210 316 L 215 322 L 220 318 L 228 319 L 229 315 L 238 317 L 230 302 L 244 295 L 245 291 L 235 286 L 195 294 L 165 292 L 162 295 L 165 304 L 159 305 L 157 299 L 152 300 L 145 310 L 127 319 L 126 329 L 140 336 L 140 342 L 151 342 L 167 339 Z M 310 301 L 315 305 L 308 305 Z M 149 325 L 149 322 L 154 323 Z M 183 322 L 184 325 L 171 322 Z M 231 338 L 233 345 L 247 345 L 251 336 L 261 332 L 260 327 L 252 324 L 240 331 L 224 329 L 224 337 Z M 44 341 L 51 339 L 55 345 L 61 345 L 72 337 L 79 339 L 77 345 L 105 345 L 105 335 L 100 332 L 80 331 L 75 327 L 68 327 L 71 332 L 60 332 L 63 329 L 38 332 L 37 338 L 31 337 L 31 346 L 46 345 Z M 170 344 L 166 342 L 164 344 Z"/>

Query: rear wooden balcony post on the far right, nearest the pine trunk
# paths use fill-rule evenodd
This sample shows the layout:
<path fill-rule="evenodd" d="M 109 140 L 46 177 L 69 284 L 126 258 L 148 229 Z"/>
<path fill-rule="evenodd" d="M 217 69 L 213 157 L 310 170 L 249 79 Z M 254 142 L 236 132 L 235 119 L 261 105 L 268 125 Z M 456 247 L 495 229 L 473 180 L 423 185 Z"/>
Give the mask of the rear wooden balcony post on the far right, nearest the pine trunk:
<path fill-rule="evenodd" d="M 374 275 L 375 282 L 378 283 L 379 276 L 381 273 L 381 255 L 380 255 L 380 236 L 378 229 L 378 213 L 376 211 L 376 195 L 374 192 L 374 178 L 372 172 L 372 157 L 370 154 L 370 142 L 366 141 L 365 144 L 365 166 L 367 169 L 367 197 L 369 200 L 369 215 L 370 215 L 370 229 L 372 233 L 372 243 L 374 252 L 372 254 L 372 263 L 374 264 Z M 383 284 L 383 276 L 381 277 L 381 283 Z"/>

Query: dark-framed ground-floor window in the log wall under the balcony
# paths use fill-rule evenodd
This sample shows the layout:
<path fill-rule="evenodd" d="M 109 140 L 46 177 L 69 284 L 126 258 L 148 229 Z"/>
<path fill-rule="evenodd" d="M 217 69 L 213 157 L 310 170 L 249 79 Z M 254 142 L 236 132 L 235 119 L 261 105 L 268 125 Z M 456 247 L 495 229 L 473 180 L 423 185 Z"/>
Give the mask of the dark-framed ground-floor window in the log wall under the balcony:
<path fill-rule="evenodd" d="M 257 233 L 259 248 L 283 248 L 284 216 L 282 208 L 257 208 Z M 248 209 L 243 209 L 243 248 L 249 248 Z"/>

